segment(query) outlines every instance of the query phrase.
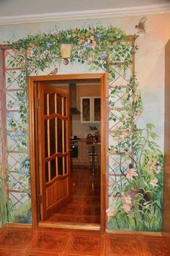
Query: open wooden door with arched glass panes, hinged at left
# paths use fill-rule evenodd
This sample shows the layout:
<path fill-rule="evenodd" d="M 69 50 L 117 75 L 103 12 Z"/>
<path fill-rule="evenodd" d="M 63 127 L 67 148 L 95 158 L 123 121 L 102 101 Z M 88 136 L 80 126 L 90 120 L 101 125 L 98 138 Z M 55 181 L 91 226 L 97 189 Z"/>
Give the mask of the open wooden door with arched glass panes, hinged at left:
<path fill-rule="evenodd" d="M 69 199 L 69 91 L 37 83 L 40 220 Z"/>

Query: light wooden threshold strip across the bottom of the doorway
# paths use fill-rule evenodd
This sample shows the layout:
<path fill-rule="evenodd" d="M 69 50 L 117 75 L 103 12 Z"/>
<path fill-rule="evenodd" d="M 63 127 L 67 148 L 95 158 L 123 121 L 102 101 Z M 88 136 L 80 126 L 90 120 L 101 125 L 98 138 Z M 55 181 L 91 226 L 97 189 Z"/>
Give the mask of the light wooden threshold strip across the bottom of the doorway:
<path fill-rule="evenodd" d="M 38 228 L 54 228 L 54 229 L 80 229 L 80 230 L 94 230 L 99 231 L 101 229 L 99 224 L 75 224 L 64 222 L 48 222 L 40 221 Z"/>

